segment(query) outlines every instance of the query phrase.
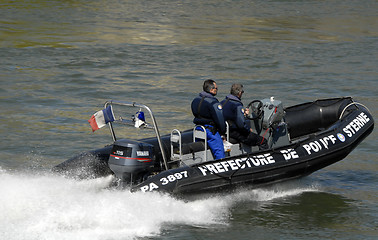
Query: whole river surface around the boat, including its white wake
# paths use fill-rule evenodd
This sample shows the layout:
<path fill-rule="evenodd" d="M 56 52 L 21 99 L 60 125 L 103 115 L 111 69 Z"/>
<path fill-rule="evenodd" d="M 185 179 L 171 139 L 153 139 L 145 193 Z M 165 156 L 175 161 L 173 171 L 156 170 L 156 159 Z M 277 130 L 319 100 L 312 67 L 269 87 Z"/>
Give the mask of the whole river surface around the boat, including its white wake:
<path fill-rule="evenodd" d="M 376 239 L 374 131 L 346 159 L 264 189 L 180 200 L 104 189 L 49 169 L 111 142 L 106 100 L 192 127 L 203 80 L 218 98 L 285 106 L 353 96 L 377 108 L 377 1 L 1 1 L 1 239 Z M 130 134 L 135 138 L 138 133 Z"/>

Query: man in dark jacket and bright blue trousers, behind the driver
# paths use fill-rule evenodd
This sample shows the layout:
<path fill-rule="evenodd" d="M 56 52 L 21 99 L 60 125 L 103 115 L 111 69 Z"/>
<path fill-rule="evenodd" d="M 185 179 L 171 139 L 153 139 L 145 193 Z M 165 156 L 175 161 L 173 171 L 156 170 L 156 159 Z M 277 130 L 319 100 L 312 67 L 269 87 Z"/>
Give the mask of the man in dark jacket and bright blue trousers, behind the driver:
<path fill-rule="evenodd" d="M 214 155 L 214 159 L 225 157 L 221 134 L 226 132 L 226 123 L 223 118 L 222 105 L 217 95 L 218 87 L 214 80 L 208 79 L 203 83 L 201 92 L 192 101 L 193 123 L 203 125 L 206 129 L 207 143 Z"/>

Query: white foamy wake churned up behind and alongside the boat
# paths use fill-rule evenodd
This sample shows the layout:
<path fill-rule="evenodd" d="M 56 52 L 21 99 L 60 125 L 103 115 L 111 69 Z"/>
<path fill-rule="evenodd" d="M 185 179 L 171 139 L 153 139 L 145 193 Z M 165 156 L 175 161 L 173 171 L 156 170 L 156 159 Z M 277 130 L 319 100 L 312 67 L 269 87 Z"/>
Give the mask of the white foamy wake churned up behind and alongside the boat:
<path fill-rule="evenodd" d="M 211 228 L 227 225 L 237 202 L 268 202 L 315 190 L 256 189 L 187 201 L 110 190 L 111 181 L 1 170 L 0 239 L 133 239 L 177 224 Z"/>

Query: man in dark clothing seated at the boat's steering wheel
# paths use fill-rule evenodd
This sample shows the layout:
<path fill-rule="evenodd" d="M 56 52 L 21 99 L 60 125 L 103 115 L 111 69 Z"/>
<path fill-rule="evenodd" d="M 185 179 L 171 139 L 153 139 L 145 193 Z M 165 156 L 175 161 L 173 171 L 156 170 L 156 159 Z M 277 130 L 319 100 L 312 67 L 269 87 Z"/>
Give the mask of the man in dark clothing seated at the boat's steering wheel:
<path fill-rule="evenodd" d="M 249 146 L 257 145 L 260 149 L 266 149 L 268 148 L 266 139 L 252 131 L 245 117 L 248 109 L 244 109 L 241 102 L 243 93 L 243 85 L 234 83 L 230 94 L 221 102 L 224 119 L 230 126 L 230 138 Z"/>

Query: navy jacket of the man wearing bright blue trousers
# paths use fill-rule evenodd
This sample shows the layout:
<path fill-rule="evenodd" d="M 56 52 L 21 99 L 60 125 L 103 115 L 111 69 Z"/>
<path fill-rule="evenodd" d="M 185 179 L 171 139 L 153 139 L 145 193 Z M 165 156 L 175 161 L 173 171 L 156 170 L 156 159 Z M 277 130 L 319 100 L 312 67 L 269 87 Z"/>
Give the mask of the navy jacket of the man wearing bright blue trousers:
<path fill-rule="evenodd" d="M 193 123 L 197 125 L 211 125 L 218 129 L 220 134 L 226 132 L 222 105 L 212 94 L 201 92 L 192 101 Z"/>

